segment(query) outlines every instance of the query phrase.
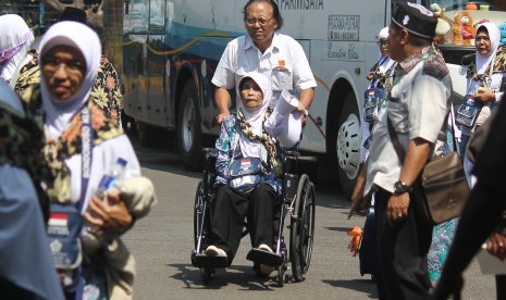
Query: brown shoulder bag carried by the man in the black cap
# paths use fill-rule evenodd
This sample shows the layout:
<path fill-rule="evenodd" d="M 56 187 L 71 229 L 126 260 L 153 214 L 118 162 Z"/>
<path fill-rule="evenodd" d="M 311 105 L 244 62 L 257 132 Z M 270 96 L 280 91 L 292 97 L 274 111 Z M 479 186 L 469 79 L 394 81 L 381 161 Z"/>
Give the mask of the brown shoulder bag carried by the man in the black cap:
<path fill-rule="evenodd" d="M 453 113 L 449 112 L 453 117 Z M 445 118 L 447 120 L 447 118 Z M 388 134 L 394 145 L 395 152 L 404 163 L 404 149 L 395 132 L 392 121 L 387 117 Z M 452 135 L 455 142 L 455 130 L 452 126 Z M 454 143 L 455 148 L 457 143 Z M 440 224 L 460 215 L 464 204 L 469 196 L 462 163 L 456 151 L 432 158 L 422 171 L 421 176 L 415 183 L 421 187 L 421 201 L 411 200 L 420 204 L 421 217 L 432 225 Z"/>

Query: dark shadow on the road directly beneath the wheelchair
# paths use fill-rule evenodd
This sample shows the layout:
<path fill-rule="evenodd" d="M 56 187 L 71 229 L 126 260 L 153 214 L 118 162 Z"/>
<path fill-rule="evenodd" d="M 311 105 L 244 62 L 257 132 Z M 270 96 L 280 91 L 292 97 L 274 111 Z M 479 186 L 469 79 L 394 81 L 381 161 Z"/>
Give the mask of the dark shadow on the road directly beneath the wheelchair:
<path fill-rule="evenodd" d="M 203 284 L 200 270 L 190 264 L 168 264 L 168 266 L 177 270 L 177 273 L 171 277 L 182 282 L 187 289 L 220 289 L 229 285 L 237 286 L 237 290 L 275 290 L 277 288 L 275 277 L 260 278 L 255 275 L 251 265 L 232 265 L 226 268 L 226 274 L 211 277 L 208 285 Z M 272 274 L 277 276 L 276 272 Z"/>

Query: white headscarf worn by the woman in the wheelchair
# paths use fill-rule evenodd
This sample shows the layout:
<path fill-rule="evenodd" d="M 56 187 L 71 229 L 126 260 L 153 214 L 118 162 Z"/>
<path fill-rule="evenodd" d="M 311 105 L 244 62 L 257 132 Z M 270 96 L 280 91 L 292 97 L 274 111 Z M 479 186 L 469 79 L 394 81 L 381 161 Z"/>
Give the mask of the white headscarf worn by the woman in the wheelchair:
<path fill-rule="evenodd" d="M 257 83 L 263 93 L 263 101 L 260 108 L 251 110 L 245 108 L 243 105 L 243 100 L 240 99 L 240 83 L 246 79 L 251 78 Z M 237 93 L 239 96 L 237 101 L 237 108 L 243 110 L 244 116 L 246 121 L 251 125 L 252 130 L 257 135 L 262 134 L 262 126 L 263 126 L 263 115 L 266 114 L 267 109 L 269 108 L 269 103 L 272 99 L 272 87 L 271 82 L 264 75 L 250 72 L 243 76 L 237 83 Z M 244 158 L 261 158 L 261 142 L 259 140 L 251 140 L 246 137 L 244 134 L 239 135 L 239 145 L 240 145 L 240 152 L 243 153 Z"/>

